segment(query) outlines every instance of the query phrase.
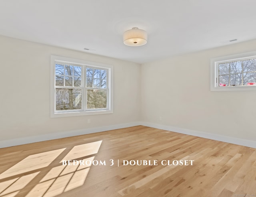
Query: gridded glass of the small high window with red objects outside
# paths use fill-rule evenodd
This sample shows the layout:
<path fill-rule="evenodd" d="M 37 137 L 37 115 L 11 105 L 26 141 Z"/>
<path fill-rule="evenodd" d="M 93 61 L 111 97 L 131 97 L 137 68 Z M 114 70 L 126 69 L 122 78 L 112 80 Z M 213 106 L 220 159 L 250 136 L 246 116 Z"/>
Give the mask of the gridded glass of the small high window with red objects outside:
<path fill-rule="evenodd" d="M 256 58 L 221 62 L 218 66 L 218 86 L 256 85 Z"/>

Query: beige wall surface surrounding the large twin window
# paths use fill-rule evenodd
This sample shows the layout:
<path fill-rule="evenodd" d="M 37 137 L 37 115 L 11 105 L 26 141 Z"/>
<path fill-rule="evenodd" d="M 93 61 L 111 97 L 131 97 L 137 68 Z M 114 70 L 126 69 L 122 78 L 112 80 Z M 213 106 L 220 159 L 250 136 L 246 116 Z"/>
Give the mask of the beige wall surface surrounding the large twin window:
<path fill-rule="evenodd" d="M 4 36 L 0 54 L 0 143 L 140 120 L 139 64 Z M 50 55 L 113 65 L 114 113 L 50 118 Z"/>

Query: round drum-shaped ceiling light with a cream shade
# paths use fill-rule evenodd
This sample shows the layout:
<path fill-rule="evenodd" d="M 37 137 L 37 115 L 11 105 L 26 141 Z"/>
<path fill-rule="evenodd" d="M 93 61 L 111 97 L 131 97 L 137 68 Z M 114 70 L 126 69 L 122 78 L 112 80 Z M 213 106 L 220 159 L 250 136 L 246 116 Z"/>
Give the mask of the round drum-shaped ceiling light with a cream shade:
<path fill-rule="evenodd" d="M 132 47 L 142 46 L 147 43 L 148 35 L 145 30 L 132 28 L 124 32 L 124 44 Z"/>

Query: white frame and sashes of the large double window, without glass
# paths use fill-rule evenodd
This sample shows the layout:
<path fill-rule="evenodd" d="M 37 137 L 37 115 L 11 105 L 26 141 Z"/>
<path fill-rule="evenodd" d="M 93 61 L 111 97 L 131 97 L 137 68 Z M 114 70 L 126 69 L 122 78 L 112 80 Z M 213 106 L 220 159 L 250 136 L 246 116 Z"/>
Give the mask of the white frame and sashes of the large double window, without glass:
<path fill-rule="evenodd" d="M 102 63 L 96 63 L 91 61 L 85 61 L 80 59 L 73 59 L 68 57 L 61 57 L 56 55 L 51 55 L 51 63 L 50 63 L 50 117 L 67 117 L 67 116 L 83 116 L 83 115 L 92 115 L 92 114 L 109 114 L 113 113 L 113 66 L 106 65 Z M 82 109 L 80 110 L 56 110 L 56 86 L 55 84 L 55 63 L 63 62 L 70 65 L 79 65 L 82 66 L 82 76 L 81 83 L 82 87 L 78 87 L 78 89 L 82 89 Z M 97 88 L 88 88 L 86 87 L 86 68 L 92 69 L 104 69 L 107 70 L 107 107 L 100 109 L 87 109 L 87 89 L 97 89 Z M 74 87 L 72 87 L 74 88 Z M 76 88 L 76 87 L 75 87 Z"/>

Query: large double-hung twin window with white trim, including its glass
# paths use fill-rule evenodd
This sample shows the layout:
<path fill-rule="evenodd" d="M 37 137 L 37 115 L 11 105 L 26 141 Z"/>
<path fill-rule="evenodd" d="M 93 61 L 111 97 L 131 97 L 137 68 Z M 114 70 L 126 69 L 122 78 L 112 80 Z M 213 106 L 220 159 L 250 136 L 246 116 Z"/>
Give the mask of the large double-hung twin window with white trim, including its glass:
<path fill-rule="evenodd" d="M 112 66 L 51 56 L 51 117 L 112 113 Z"/>

